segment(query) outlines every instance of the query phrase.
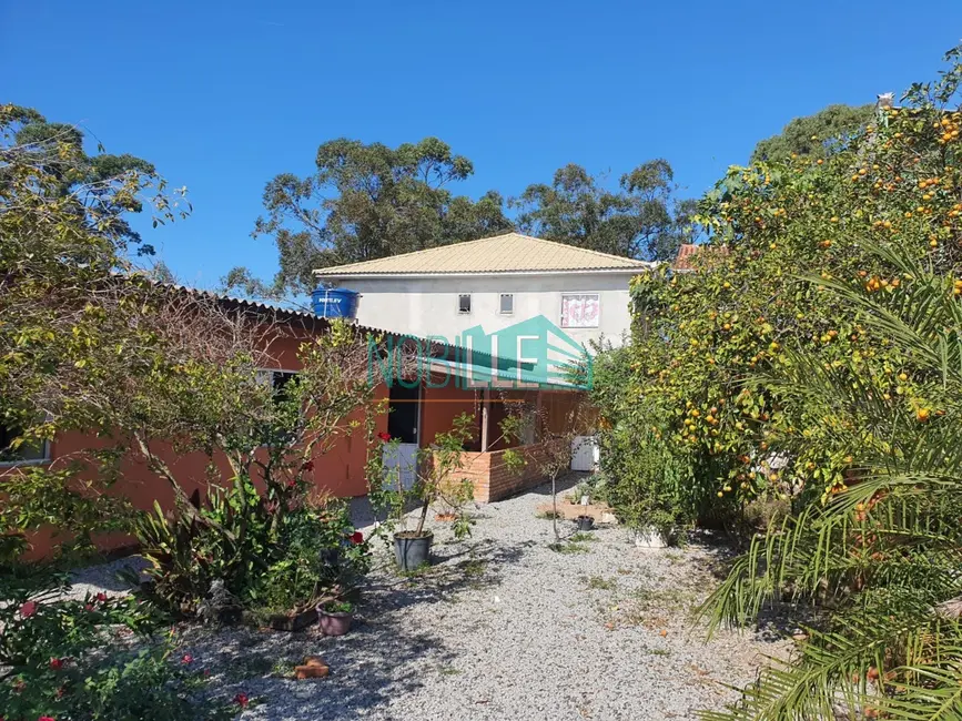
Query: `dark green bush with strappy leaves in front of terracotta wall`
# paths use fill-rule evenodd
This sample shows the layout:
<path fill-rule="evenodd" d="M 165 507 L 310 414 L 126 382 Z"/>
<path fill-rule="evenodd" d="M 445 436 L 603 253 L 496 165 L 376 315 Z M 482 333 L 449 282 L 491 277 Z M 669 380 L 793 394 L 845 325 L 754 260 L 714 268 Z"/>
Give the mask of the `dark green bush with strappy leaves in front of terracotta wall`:
<path fill-rule="evenodd" d="M 355 592 L 367 571 L 360 540 L 341 501 L 262 497 L 249 478 L 215 488 L 194 514 L 156 507 L 139 539 L 153 568 L 148 596 L 162 608 L 193 615 L 221 581 L 236 610 L 284 613 Z"/>

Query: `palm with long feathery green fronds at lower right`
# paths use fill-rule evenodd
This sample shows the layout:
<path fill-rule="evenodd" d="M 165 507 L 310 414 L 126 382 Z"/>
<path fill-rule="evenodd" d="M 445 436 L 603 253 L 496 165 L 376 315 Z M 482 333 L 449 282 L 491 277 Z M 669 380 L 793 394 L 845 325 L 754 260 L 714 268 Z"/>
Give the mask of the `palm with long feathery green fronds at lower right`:
<path fill-rule="evenodd" d="M 766 378 L 820 420 L 850 471 L 823 504 L 757 537 L 703 607 L 712 628 L 783 600 L 812 613 L 791 660 L 708 719 L 962 719 L 962 281 L 904 250 L 869 250 L 895 287 L 809 281 L 903 367 L 798 349 Z M 798 433 L 787 448 L 806 443 Z"/>

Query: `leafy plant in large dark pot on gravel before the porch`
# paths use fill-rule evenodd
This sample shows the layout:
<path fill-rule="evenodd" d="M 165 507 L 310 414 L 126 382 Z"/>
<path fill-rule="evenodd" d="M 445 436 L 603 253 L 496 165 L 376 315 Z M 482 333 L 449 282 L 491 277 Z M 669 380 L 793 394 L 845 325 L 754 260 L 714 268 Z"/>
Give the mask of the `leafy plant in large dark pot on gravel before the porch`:
<path fill-rule="evenodd" d="M 388 458 L 396 450 L 398 441 L 386 434 L 377 437 L 387 447 L 373 449 L 367 464 L 368 497 L 378 515 L 385 520 L 379 529 L 394 530 L 394 554 L 402 571 L 414 571 L 431 562 L 431 547 L 434 532 L 425 528 L 432 505 L 443 504 L 444 512 L 453 518 L 456 538 L 470 532 L 472 519 L 466 512 L 467 504 L 474 498 L 474 486 L 467 479 L 458 478 L 464 468 L 464 445 L 474 436 L 475 418 L 462 414 L 454 419 L 452 429 L 435 436 L 434 443 L 418 449 L 414 468 L 414 483 L 405 486 L 402 474 L 395 465 L 386 467 Z M 411 518 L 408 511 L 417 508 Z"/>

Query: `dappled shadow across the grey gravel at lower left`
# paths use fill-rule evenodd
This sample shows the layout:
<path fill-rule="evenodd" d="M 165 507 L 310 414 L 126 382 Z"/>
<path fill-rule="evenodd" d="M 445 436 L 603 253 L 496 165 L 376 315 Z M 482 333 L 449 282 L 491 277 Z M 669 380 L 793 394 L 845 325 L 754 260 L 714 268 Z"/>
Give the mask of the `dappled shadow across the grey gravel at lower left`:
<path fill-rule="evenodd" d="M 422 679 L 433 679 L 458 660 L 434 627 L 406 618 L 417 612 L 415 607 L 439 605 L 433 612 L 443 618 L 444 605 L 458 602 L 458 591 L 497 586 L 535 545 L 484 539 L 435 547 L 433 566 L 406 577 L 388 571 L 383 582 L 368 587 L 351 632 L 341 638 L 322 637 L 313 627 L 301 633 L 198 630 L 191 652 L 205 667 L 224 670 L 214 679 L 219 695 L 243 692 L 263 700 L 244 719 L 326 721 L 383 711 L 392 699 L 416 692 Z M 418 612 L 418 618 L 424 616 Z M 281 678 L 308 654 L 325 659 L 328 678 Z"/>

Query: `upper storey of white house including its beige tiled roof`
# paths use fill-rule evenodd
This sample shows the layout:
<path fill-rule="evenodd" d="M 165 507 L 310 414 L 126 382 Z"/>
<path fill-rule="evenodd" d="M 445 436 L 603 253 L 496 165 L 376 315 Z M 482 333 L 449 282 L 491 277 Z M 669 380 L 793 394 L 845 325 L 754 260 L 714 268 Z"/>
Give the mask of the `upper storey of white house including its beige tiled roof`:
<path fill-rule="evenodd" d="M 361 294 L 357 322 L 454 343 L 544 316 L 587 345 L 630 326 L 628 282 L 650 263 L 518 233 L 315 271 Z"/>

